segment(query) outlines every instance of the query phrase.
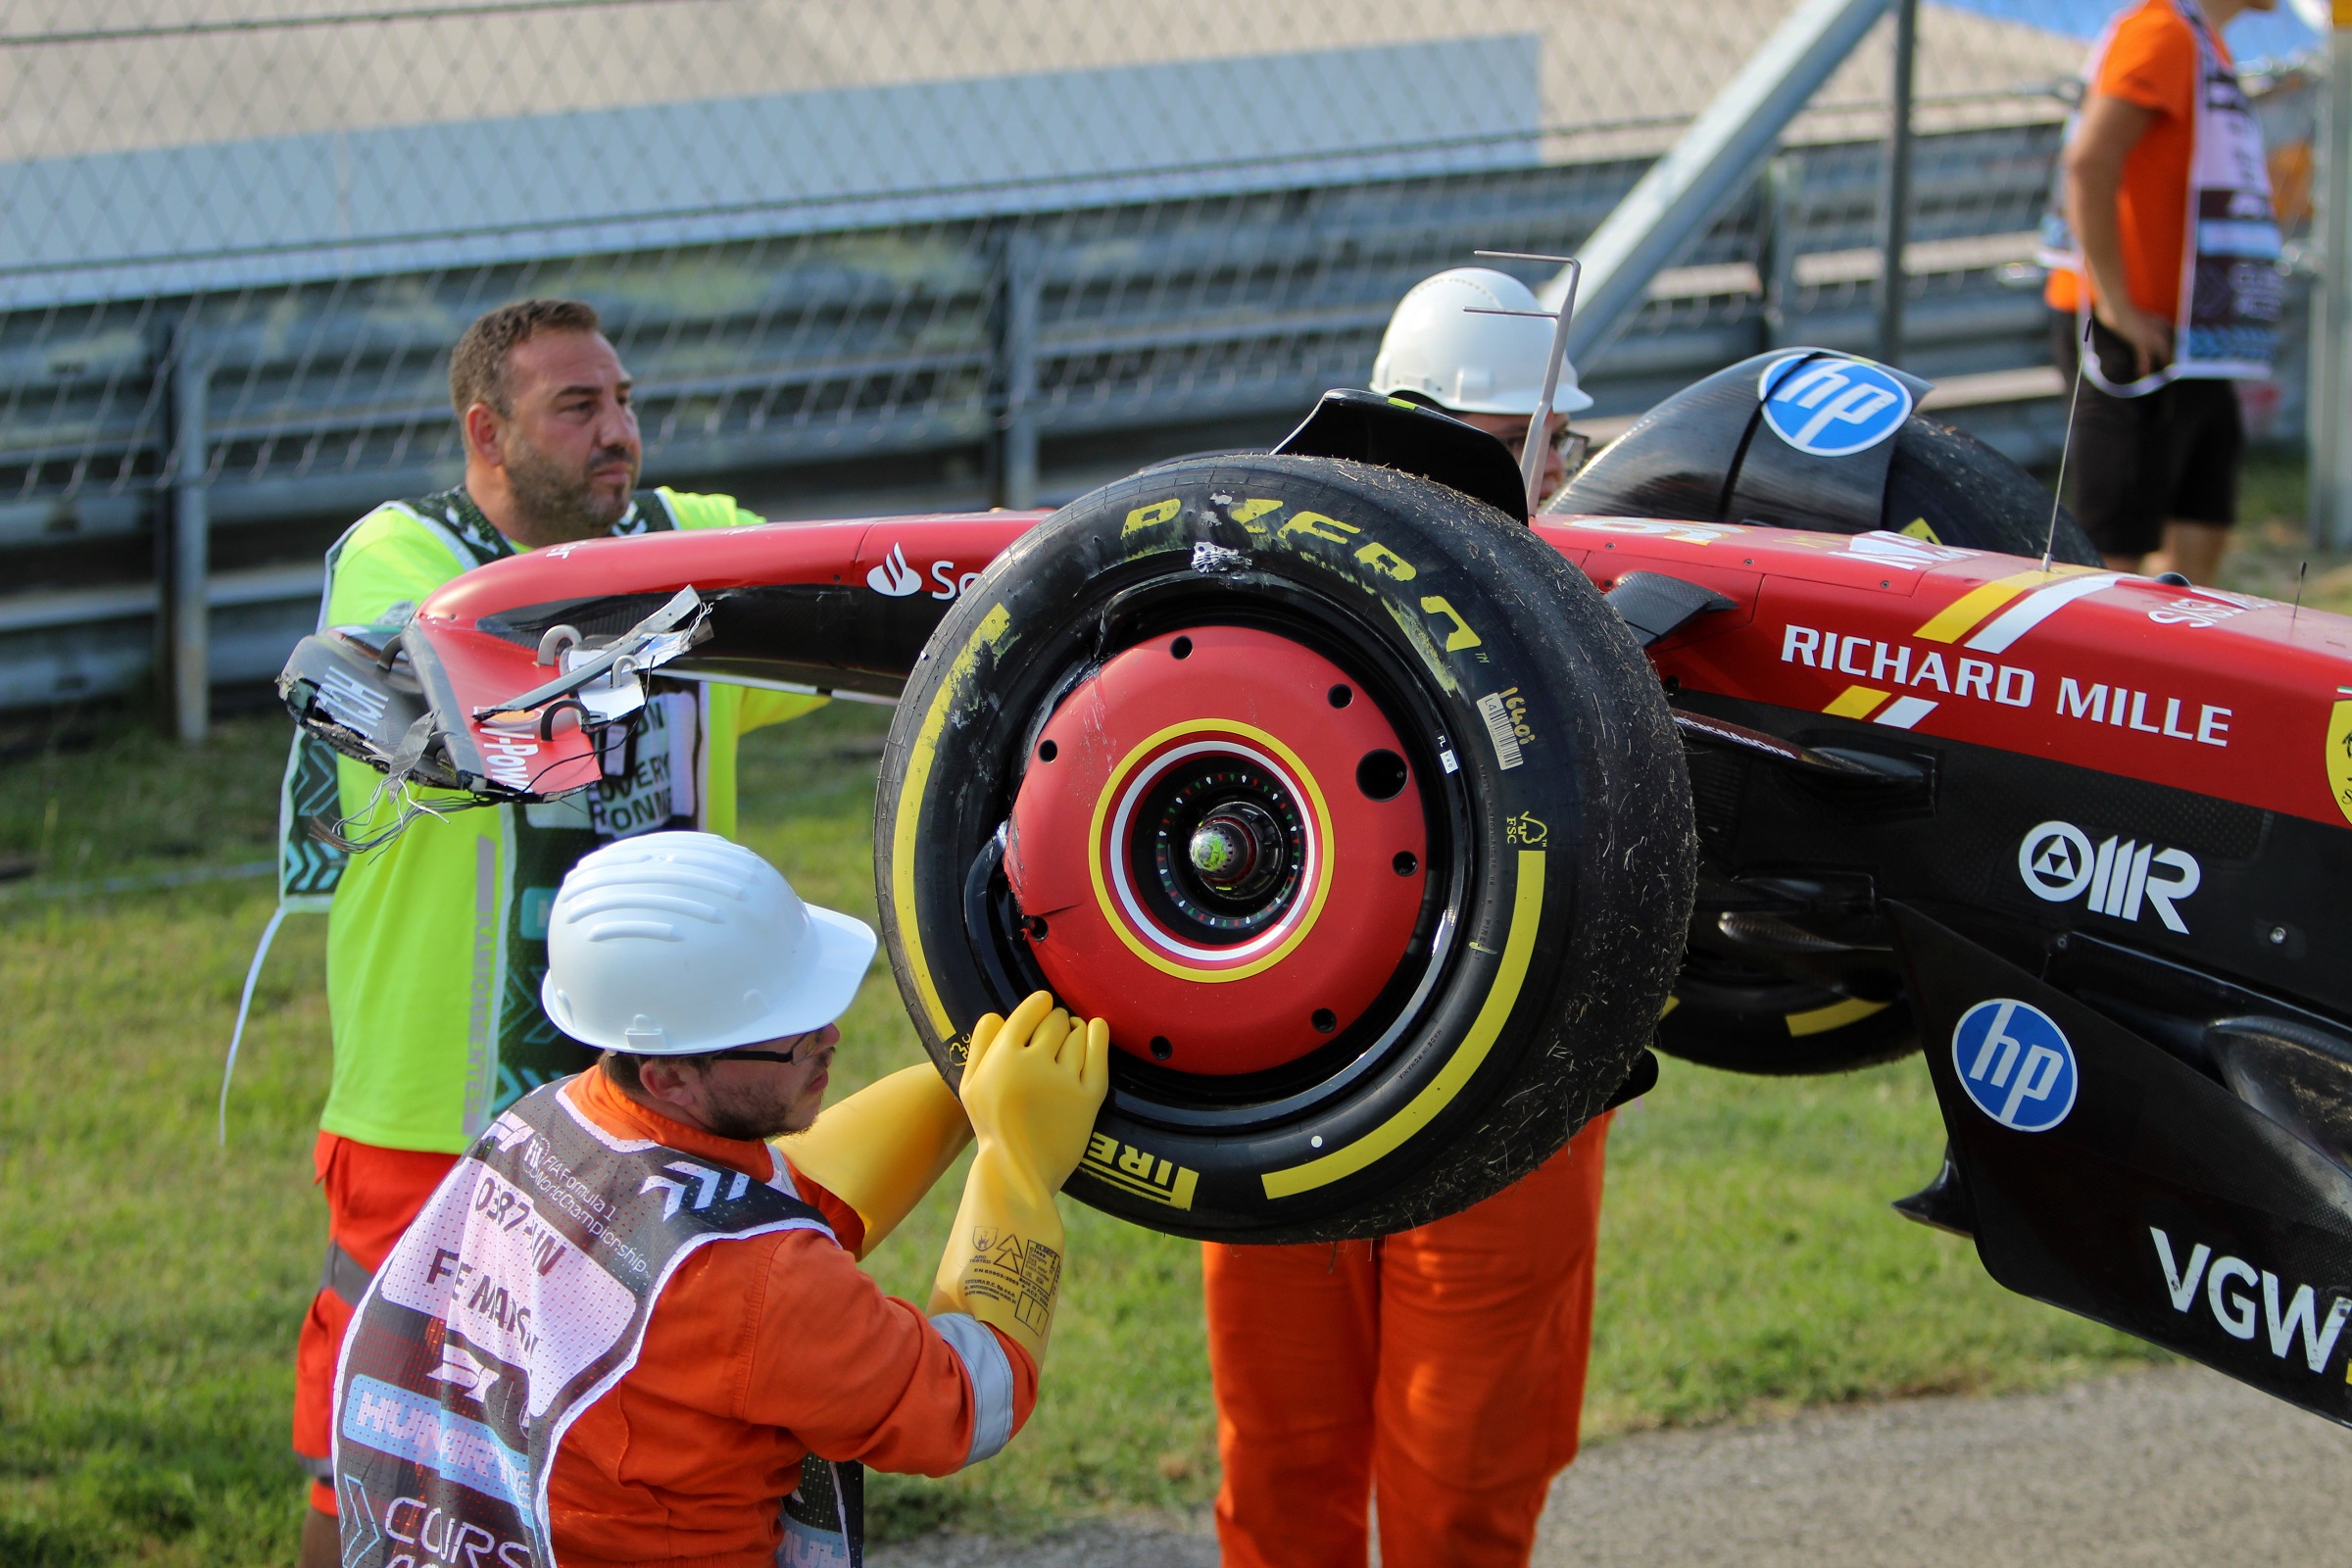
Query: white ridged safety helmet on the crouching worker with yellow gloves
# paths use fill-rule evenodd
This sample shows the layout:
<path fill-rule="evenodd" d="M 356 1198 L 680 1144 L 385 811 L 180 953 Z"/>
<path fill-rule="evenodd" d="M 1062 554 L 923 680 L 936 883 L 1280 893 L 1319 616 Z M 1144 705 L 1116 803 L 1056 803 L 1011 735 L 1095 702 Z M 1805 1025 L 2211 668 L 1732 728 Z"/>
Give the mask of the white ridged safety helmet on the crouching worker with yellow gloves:
<path fill-rule="evenodd" d="M 581 1044 L 694 1056 L 826 1027 L 873 957 L 866 922 L 800 903 L 741 844 L 647 832 L 581 856 L 564 877 L 539 999 Z"/>

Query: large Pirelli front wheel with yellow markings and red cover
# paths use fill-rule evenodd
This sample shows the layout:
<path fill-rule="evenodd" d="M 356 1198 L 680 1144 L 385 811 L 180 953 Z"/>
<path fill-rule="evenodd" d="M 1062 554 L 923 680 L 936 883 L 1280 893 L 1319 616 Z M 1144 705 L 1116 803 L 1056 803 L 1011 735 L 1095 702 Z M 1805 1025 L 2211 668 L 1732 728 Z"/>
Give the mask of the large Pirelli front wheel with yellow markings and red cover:
<path fill-rule="evenodd" d="M 1073 1197 L 1319 1241 L 1468 1208 L 1609 1103 L 1696 835 L 1653 672 L 1519 520 L 1388 468 L 1204 456 L 1070 503 L 948 611 L 875 875 L 950 1081 L 1037 985 L 1110 1016 Z"/>

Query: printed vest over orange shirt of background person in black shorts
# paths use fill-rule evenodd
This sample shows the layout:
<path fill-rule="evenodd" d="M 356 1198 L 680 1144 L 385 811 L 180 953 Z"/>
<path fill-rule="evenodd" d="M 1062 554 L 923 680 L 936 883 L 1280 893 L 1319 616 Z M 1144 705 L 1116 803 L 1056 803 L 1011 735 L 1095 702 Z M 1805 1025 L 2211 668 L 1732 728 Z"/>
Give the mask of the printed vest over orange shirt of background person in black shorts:
<path fill-rule="evenodd" d="M 2117 397 L 2140 397 L 2178 378 L 2263 378 L 2279 355 L 2279 313 L 2286 284 L 2279 277 L 2279 221 L 2270 207 L 2270 165 L 2263 158 L 2263 125 L 2239 87 L 2237 71 L 2220 54 L 2213 26 L 2197 0 L 2171 0 L 2197 38 L 2197 113 L 2190 127 L 2187 226 L 2180 233 L 2180 310 L 2173 320 L 2173 360 L 2164 369 L 2112 381 L 2096 353 L 2082 355 L 2082 374 Z M 2122 16 L 2117 19 L 2122 21 Z M 2114 26 L 2091 47 L 2084 82 L 2098 82 Z M 2074 141 L 2082 110 L 2067 118 Z M 2084 284 L 2074 292 L 2077 329 L 2091 320 L 2091 287 L 2082 249 L 2065 221 L 2065 174 L 2060 167 L 2042 216 L 2042 266 L 2067 268 Z"/>

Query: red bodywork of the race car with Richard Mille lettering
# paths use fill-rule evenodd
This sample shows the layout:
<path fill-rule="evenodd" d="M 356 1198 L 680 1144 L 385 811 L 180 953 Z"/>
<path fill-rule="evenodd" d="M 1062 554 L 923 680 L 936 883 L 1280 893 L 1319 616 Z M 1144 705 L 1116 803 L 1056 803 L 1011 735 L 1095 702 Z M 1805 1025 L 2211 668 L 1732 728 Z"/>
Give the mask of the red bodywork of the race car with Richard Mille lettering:
<path fill-rule="evenodd" d="M 560 545 L 470 571 L 419 611 L 466 710 L 548 677 L 482 616 L 619 592 L 840 583 L 955 599 L 1044 512 L 769 524 Z M 1722 592 L 1651 646 L 1663 677 L 1797 712 L 1915 729 L 2241 802 L 2352 820 L 2352 621 L 2270 599 L 1955 550 L 1804 534 L 1545 517 L 1536 534 L 1606 590 L 1661 571 Z M 586 736 L 475 724 L 508 780 L 595 780 Z M 524 755 L 527 752 L 527 755 Z M 494 773 L 496 776 L 496 773 Z"/>

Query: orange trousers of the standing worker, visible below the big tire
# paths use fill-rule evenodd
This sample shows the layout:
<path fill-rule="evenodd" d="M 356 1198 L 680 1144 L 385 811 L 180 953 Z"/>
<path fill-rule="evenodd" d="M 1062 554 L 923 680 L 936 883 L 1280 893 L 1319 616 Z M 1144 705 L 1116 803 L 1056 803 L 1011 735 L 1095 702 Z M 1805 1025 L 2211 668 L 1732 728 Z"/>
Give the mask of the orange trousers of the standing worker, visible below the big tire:
<path fill-rule="evenodd" d="M 1609 1117 L 1454 1218 L 1202 1246 L 1225 1568 L 1526 1563 L 1576 1458 Z"/>

